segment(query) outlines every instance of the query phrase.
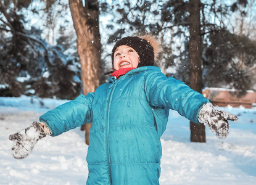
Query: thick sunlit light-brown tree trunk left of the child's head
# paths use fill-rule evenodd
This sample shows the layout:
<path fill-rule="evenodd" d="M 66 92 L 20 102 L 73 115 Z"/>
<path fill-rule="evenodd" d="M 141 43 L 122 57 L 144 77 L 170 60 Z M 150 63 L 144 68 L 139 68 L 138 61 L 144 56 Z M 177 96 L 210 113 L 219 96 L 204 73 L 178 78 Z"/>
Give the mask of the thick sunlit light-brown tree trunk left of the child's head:
<path fill-rule="evenodd" d="M 83 94 L 94 92 L 101 84 L 101 35 L 99 33 L 99 2 L 97 0 L 85 1 L 69 0 L 73 26 L 77 36 L 77 51 L 81 63 L 81 80 Z M 83 125 L 85 142 L 89 144 L 89 130 L 91 123 Z"/>

